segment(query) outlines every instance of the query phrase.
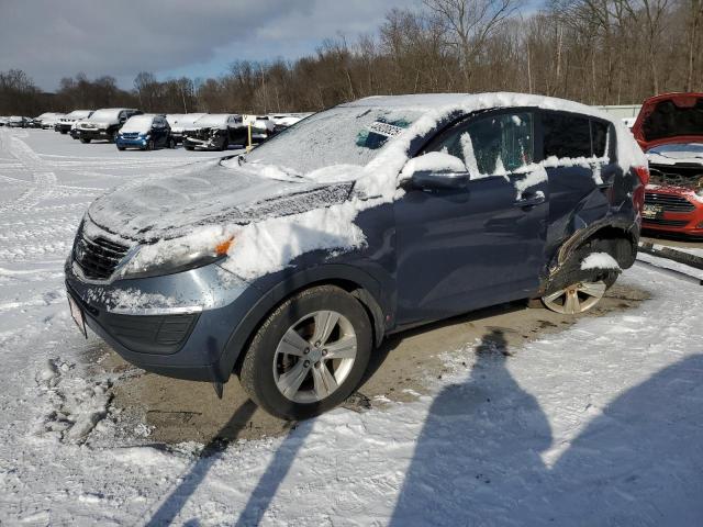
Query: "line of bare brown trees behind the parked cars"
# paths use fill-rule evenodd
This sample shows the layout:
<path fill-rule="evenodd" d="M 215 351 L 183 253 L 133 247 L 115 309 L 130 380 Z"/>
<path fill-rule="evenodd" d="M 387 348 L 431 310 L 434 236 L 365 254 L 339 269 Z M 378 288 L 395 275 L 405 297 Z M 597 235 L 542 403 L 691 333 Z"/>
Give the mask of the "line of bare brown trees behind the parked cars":
<path fill-rule="evenodd" d="M 315 111 L 380 93 L 496 90 L 629 104 L 703 89 L 703 0 L 548 0 L 532 14 L 522 1 L 424 0 L 390 11 L 376 34 L 327 40 L 313 56 L 235 60 L 209 79 L 141 72 L 129 91 L 78 75 L 46 94 L 11 70 L 0 74 L 0 114 Z"/>

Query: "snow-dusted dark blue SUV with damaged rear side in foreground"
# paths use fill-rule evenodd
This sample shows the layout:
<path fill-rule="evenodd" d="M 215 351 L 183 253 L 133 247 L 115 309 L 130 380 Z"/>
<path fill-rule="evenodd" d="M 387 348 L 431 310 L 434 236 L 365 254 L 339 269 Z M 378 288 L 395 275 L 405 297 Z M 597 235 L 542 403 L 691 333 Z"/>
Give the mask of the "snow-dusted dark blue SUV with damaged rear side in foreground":
<path fill-rule="evenodd" d="M 344 401 L 393 333 L 596 305 L 635 260 L 648 178 L 609 115 L 513 93 L 361 99 L 189 170 L 89 208 L 74 318 L 146 370 L 219 394 L 235 374 L 291 419 Z"/>

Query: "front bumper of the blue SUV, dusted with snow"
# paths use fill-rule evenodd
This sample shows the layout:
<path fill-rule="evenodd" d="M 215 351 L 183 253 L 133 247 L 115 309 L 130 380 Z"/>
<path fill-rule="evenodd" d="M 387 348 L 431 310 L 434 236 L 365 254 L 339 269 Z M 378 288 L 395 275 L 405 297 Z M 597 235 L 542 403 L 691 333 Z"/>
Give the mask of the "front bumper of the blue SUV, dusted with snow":
<path fill-rule="evenodd" d="M 167 377 L 226 382 L 228 344 L 261 293 L 215 264 L 163 277 L 87 283 L 67 260 L 66 288 L 86 324 L 126 361 Z"/>

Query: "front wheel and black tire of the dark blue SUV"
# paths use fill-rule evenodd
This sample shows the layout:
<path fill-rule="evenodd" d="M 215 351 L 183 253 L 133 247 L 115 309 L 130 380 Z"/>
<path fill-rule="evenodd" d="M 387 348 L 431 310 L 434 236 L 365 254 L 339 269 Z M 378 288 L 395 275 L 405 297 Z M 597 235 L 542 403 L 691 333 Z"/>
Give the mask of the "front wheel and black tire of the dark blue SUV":
<path fill-rule="evenodd" d="M 357 388 L 371 355 L 371 335 L 366 311 L 349 293 L 335 285 L 309 289 L 264 321 L 239 382 L 269 414 L 313 417 Z"/>

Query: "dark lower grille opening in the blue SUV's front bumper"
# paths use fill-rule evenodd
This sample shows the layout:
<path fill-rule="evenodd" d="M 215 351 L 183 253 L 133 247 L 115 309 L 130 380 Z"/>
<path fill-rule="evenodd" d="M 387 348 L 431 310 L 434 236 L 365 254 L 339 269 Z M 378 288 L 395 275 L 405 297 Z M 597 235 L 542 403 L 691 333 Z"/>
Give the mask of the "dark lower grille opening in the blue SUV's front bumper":
<path fill-rule="evenodd" d="M 104 313 L 102 324 L 125 348 L 142 354 L 178 351 L 196 326 L 199 314 L 122 315 Z"/>

